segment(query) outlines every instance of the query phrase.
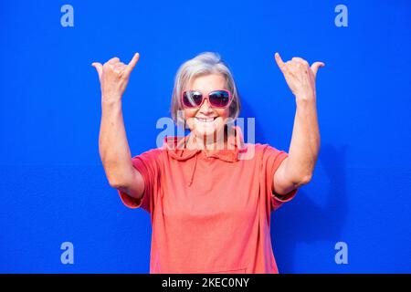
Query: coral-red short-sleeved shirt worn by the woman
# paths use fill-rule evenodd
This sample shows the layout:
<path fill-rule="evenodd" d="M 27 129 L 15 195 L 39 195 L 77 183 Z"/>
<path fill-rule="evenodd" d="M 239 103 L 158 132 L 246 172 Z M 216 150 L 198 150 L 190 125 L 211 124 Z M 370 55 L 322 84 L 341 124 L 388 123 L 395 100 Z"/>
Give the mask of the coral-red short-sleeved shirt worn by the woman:
<path fill-rule="evenodd" d="M 151 215 L 150 273 L 278 273 L 270 214 L 298 190 L 280 200 L 272 181 L 288 154 L 236 133 L 234 150 L 189 149 L 187 135 L 132 158 L 142 199 L 119 193 L 126 206 Z"/>

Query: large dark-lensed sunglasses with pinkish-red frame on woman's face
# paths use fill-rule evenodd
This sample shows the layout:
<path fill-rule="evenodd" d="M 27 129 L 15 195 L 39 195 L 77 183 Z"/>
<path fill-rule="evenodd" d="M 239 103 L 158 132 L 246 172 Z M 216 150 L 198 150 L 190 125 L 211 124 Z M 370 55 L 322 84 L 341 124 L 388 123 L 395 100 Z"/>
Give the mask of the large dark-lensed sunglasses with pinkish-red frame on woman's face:
<path fill-rule="evenodd" d="M 184 90 L 181 100 L 184 108 L 196 109 L 201 107 L 205 99 L 203 93 L 198 90 Z M 212 108 L 225 109 L 231 102 L 231 93 L 226 89 L 218 89 L 208 93 L 208 102 Z"/>

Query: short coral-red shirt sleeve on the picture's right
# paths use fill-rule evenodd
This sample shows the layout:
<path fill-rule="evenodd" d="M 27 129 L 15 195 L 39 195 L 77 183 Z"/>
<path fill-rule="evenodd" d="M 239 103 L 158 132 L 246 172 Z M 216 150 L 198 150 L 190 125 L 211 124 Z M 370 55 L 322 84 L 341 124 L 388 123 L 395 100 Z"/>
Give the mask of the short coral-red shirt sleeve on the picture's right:
<path fill-rule="evenodd" d="M 269 145 L 266 146 L 263 152 L 263 168 L 265 173 L 265 189 L 269 197 L 271 211 L 277 210 L 283 203 L 290 202 L 298 192 L 298 189 L 292 190 L 290 193 L 279 195 L 272 191 L 272 181 L 274 173 L 279 169 L 279 165 L 289 154 L 285 151 L 279 151 Z"/>

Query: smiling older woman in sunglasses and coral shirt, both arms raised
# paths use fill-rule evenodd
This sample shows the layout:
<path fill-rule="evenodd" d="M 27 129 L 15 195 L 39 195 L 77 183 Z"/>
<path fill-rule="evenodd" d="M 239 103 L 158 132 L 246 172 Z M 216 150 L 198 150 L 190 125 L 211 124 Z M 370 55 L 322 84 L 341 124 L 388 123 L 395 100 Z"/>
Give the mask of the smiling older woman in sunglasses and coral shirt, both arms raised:
<path fill-rule="evenodd" d="M 174 82 L 172 116 L 190 133 L 132 157 L 121 97 L 139 57 L 92 66 L 101 86 L 101 161 L 122 202 L 151 215 L 150 272 L 278 273 L 270 213 L 311 181 L 320 149 L 315 76 L 324 64 L 275 55 L 297 104 L 289 153 L 245 143 L 229 126 L 240 110 L 236 83 L 217 54 L 203 53 Z"/>

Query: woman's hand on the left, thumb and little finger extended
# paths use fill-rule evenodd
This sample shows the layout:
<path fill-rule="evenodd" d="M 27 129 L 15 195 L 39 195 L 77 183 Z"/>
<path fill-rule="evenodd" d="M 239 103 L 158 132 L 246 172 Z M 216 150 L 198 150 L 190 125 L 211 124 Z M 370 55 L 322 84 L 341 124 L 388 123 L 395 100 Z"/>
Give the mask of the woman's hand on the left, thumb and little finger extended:
<path fill-rule="evenodd" d="M 139 53 L 134 54 L 128 65 L 120 61 L 118 57 L 113 57 L 104 65 L 94 62 L 92 67 L 99 73 L 101 101 L 119 101 L 124 90 L 129 83 L 130 74 L 135 64 L 139 60 Z"/>

